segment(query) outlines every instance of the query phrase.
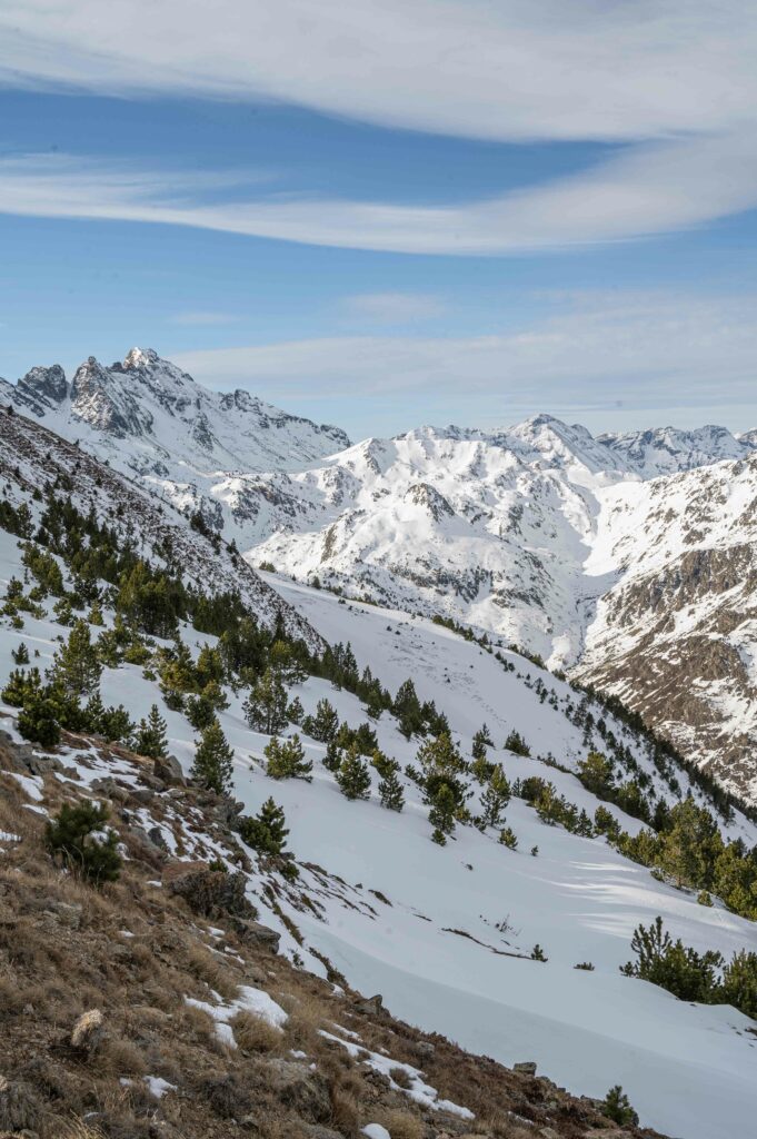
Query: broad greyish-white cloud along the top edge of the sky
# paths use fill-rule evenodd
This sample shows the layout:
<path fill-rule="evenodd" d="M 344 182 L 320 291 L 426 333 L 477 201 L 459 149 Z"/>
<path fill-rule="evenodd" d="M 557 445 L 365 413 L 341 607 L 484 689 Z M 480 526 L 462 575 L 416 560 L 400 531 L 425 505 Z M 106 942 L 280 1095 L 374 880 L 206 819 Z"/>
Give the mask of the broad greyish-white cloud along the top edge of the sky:
<path fill-rule="evenodd" d="M 492 139 L 754 122 L 743 0 L 5 0 L 0 81 L 274 99 Z"/>

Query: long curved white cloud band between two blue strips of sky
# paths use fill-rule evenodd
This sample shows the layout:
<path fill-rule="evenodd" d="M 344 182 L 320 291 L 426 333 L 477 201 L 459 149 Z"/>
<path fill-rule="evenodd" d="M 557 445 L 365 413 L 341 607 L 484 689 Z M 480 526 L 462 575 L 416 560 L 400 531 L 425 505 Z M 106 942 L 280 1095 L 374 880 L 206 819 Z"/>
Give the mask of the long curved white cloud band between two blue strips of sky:
<path fill-rule="evenodd" d="M 754 207 L 757 130 L 632 147 L 573 177 L 447 206 L 261 196 L 260 189 L 242 202 L 238 188 L 233 200 L 217 200 L 229 180 L 223 172 L 197 178 L 63 155 L 16 157 L 0 162 L 0 212 L 402 253 L 561 249 L 678 230 Z M 208 188 L 213 202 L 205 200 Z"/>

